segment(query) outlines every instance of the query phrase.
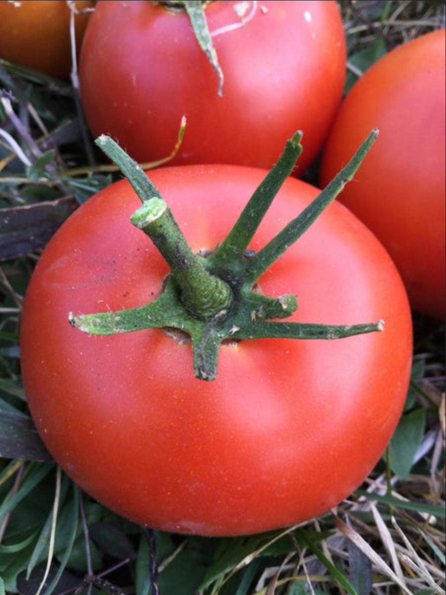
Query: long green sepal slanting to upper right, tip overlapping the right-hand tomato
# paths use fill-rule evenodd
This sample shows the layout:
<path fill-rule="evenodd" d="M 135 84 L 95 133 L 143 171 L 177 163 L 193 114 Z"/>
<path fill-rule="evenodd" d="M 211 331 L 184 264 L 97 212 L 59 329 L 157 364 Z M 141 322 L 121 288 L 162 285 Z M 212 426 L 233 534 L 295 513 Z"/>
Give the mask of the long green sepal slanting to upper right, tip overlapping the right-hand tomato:
<path fill-rule="evenodd" d="M 362 143 L 357 153 L 346 167 L 332 180 L 319 196 L 307 206 L 301 214 L 275 236 L 262 250 L 259 250 L 246 265 L 246 280 L 255 283 L 257 279 L 277 261 L 285 250 L 290 248 L 299 237 L 316 221 L 322 211 L 330 205 L 344 186 L 353 179 L 370 147 L 378 137 L 378 130 L 372 130 Z"/>

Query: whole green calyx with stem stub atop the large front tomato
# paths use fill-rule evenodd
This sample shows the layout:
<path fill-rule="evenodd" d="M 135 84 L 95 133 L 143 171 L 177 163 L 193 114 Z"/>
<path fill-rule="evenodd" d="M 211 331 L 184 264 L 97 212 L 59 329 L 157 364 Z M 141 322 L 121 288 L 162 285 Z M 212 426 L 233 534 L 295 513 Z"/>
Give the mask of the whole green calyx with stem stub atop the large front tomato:
<path fill-rule="evenodd" d="M 263 339 L 341 339 L 383 329 L 383 322 L 347 325 L 281 321 L 297 309 L 293 295 L 260 295 L 256 281 L 318 218 L 350 181 L 375 142 L 373 130 L 347 166 L 316 199 L 259 252 L 249 244 L 275 195 L 301 153 L 302 134 L 287 141 L 284 153 L 257 188 L 227 238 L 207 258 L 191 250 L 170 209 L 146 174 L 111 138 L 96 143 L 121 168 L 142 200 L 131 222 L 144 231 L 167 261 L 171 273 L 161 295 L 140 308 L 69 315 L 71 324 L 90 334 L 109 335 L 147 328 L 187 333 L 194 353 L 194 374 L 214 380 L 224 341 Z M 212 248 L 212 247 L 210 247 Z M 149 266 L 149 264 L 148 264 Z"/>

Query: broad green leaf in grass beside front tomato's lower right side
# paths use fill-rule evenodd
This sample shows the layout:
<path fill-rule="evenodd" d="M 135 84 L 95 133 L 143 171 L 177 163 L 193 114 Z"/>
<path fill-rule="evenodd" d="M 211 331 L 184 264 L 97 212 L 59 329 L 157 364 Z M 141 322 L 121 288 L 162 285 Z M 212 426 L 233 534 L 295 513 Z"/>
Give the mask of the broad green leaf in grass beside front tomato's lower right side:
<path fill-rule="evenodd" d="M 392 436 L 389 446 L 390 468 L 401 479 L 405 479 L 412 469 L 425 426 L 426 409 L 419 408 L 403 415 Z"/>

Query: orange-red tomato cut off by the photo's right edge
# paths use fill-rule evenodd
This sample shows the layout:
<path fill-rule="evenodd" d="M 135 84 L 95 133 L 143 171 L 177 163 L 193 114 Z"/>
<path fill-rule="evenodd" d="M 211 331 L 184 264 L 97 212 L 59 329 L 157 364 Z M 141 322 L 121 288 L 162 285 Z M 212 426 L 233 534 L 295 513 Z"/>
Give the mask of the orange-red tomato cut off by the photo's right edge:
<path fill-rule="evenodd" d="M 445 31 L 381 58 L 335 120 L 321 167 L 325 184 L 370 129 L 375 146 L 340 201 L 376 234 L 403 277 L 413 309 L 445 319 Z"/>

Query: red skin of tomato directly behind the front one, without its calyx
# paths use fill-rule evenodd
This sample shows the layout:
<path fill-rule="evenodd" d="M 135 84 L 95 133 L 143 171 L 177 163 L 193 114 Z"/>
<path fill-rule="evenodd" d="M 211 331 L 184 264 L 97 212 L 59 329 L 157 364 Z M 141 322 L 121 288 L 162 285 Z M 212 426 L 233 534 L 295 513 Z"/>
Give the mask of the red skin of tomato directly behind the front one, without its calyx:
<path fill-rule="evenodd" d="M 209 30 L 239 22 L 240 6 L 209 5 Z M 186 115 L 183 144 L 169 164 L 271 168 L 300 129 L 302 173 L 320 151 L 343 93 L 346 40 L 336 2 L 261 2 L 249 22 L 214 36 L 213 45 L 224 97 L 186 14 L 145 0 L 99 2 L 79 67 L 95 136 L 114 137 L 136 161 L 155 161 L 171 154 Z"/>

